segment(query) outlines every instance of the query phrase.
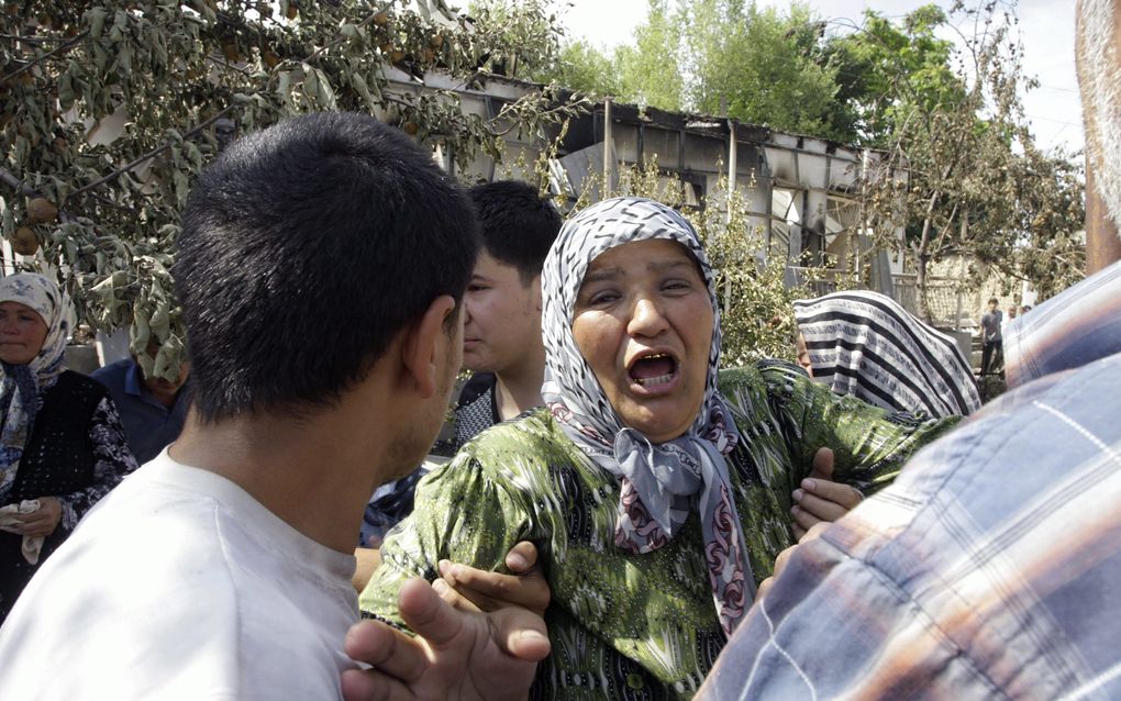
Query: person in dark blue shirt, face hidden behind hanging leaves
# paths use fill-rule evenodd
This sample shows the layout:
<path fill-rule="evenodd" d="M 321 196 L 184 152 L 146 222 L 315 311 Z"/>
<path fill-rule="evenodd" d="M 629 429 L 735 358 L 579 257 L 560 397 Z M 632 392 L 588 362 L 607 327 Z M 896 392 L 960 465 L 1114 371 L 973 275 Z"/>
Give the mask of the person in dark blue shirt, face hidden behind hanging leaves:
<path fill-rule="evenodd" d="M 149 340 L 145 353 L 155 361 L 158 352 L 159 343 Z M 189 371 L 191 363 L 184 360 L 175 379 L 149 376 L 132 357 L 90 375 L 109 389 L 138 463 L 143 464 L 158 455 L 183 431 L 191 404 L 187 396 Z"/>

